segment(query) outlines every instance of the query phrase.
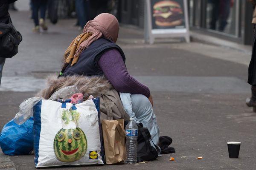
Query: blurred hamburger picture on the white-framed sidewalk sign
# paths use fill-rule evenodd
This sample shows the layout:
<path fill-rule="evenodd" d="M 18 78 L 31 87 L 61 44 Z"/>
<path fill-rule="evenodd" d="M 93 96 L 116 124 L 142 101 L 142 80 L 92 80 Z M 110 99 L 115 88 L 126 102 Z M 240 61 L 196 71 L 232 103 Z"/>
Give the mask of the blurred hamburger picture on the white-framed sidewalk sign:
<path fill-rule="evenodd" d="M 159 1 L 153 6 L 153 17 L 157 26 L 180 26 L 182 25 L 183 11 L 180 4 L 175 1 Z"/>

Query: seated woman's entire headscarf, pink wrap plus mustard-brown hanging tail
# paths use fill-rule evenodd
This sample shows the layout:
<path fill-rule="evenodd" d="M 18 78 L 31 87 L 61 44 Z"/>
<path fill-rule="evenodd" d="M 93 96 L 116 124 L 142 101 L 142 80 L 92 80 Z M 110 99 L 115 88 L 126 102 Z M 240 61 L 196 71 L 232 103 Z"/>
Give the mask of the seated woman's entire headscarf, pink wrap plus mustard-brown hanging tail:
<path fill-rule="evenodd" d="M 94 20 L 90 20 L 84 26 L 83 33 L 77 36 L 67 48 L 64 54 L 65 63 L 75 65 L 84 49 L 100 37 L 116 42 L 119 31 L 119 23 L 115 16 L 108 13 L 99 14 Z"/>

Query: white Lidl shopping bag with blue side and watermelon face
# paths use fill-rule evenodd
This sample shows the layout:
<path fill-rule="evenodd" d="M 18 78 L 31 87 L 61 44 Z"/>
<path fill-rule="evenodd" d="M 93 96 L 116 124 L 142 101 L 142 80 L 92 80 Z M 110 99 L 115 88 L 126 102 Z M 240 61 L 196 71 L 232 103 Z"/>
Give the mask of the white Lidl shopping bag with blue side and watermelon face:
<path fill-rule="evenodd" d="M 35 167 L 103 164 L 92 99 L 77 105 L 43 99 L 33 110 Z"/>

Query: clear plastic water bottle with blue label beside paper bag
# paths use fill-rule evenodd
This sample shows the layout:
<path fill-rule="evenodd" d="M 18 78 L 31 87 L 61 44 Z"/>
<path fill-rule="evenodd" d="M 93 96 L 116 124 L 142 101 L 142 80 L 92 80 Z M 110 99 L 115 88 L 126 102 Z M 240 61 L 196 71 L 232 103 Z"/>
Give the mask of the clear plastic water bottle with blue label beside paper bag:
<path fill-rule="evenodd" d="M 130 118 L 130 122 L 125 127 L 126 135 L 126 161 L 127 164 L 137 163 L 137 138 L 138 126 L 134 122 L 134 118 Z"/>

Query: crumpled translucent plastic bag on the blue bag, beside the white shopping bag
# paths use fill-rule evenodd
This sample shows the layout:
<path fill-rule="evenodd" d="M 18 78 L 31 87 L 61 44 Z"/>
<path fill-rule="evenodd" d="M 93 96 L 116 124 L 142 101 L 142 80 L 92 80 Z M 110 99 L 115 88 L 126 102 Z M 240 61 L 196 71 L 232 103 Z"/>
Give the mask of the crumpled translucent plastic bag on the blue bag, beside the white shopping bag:
<path fill-rule="evenodd" d="M 21 125 L 24 122 L 26 122 L 26 120 L 29 119 L 29 117 L 33 116 L 33 107 L 34 105 L 39 102 L 41 99 L 43 99 L 42 97 L 31 97 L 28 98 L 26 100 L 24 100 L 23 102 L 20 103 L 20 111 L 15 115 L 14 117 L 14 122 L 17 125 Z"/>

